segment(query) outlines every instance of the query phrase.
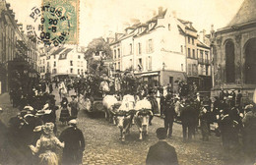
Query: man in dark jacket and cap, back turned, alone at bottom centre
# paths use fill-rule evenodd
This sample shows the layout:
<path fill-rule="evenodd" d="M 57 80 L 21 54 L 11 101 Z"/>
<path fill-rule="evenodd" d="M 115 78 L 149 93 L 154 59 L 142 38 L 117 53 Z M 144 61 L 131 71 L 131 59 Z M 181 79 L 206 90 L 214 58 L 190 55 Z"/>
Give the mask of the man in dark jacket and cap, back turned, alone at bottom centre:
<path fill-rule="evenodd" d="M 175 148 L 169 145 L 166 141 L 166 130 L 164 128 L 159 128 L 157 130 L 157 137 L 159 141 L 150 147 L 149 153 L 147 155 L 146 164 L 147 165 L 177 165 L 177 153 Z"/>

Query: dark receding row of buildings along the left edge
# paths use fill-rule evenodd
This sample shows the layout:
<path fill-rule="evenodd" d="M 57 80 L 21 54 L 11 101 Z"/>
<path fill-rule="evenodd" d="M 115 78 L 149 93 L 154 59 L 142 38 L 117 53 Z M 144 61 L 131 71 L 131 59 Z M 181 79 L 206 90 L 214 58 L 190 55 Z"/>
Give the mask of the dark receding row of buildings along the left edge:
<path fill-rule="evenodd" d="M 18 87 L 26 92 L 37 77 L 36 38 L 25 34 L 10 6 L 0 2 L 0 93 Z"/>

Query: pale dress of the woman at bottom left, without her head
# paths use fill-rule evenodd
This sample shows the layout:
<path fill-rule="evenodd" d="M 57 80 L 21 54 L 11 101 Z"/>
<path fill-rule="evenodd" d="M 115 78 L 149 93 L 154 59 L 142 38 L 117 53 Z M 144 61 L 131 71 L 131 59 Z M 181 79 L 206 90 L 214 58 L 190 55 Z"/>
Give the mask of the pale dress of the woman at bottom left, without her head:
<path fill-rule="evenodd" d="M 32 146 L 32 152 L 38 153 L 40 165 L 58 165 L 58 157 L 55 153 L 56 147 L 64 147 L 64 144 L 56 137 L 41 136 L 36 142 L 36 146 Z"/>

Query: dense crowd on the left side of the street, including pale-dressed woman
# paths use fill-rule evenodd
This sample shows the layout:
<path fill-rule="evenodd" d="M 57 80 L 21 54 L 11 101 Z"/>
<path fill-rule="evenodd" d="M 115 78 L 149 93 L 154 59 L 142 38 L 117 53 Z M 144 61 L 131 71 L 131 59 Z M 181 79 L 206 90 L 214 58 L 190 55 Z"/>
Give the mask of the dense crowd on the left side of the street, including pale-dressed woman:
<path fill-rule="evenodd" d="M 4 145 L 1 145 L 4 146 L 1 148 L 1 154 L 12 155 L 12 159 L 4 160 L 5 163 L 82 163 L 85 139 L 77 128 L 79 106 L 75 100 L 76 95 L 71 96 L 70 102 L 67 95 L 62 95 L 60 105 L 56 105 L 51 86 L 52 83 L 41 82 L 33 86 L 30 92 L 21 92 L 19 99 L 10 97 L 13 106 L 20 109 L 20 112 L 9 120 L 9 126 L 5 129 L 6 137 Z M 71 108 L 71 113 L 68 107 Z M 57 110 L 60 110 L 60 122 L 68 125 L 61 133 L 57 131 Z"/>

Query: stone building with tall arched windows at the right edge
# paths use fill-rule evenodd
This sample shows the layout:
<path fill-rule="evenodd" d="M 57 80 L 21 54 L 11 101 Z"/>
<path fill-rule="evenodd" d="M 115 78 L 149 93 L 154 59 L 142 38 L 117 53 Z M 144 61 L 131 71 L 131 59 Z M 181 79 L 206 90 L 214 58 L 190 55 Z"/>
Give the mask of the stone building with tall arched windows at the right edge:
<path fill-rule="evenodd" d="M 243 100 L 252 99 L 256 87 L 256 1 L 244 0 L 231 22 L 213 40 L 213 95 L 221 88 L 241 89 Z"/>

